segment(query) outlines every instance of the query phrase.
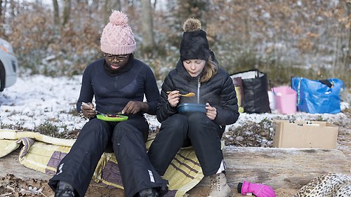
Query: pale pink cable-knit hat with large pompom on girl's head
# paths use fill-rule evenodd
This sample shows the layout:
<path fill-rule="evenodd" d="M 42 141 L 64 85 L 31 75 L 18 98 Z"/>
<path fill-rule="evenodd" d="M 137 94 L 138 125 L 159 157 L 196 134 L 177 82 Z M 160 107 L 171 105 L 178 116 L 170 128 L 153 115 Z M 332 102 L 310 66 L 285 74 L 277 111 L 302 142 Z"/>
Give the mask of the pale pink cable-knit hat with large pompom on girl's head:
<path fill-rule="evenodd" d="M 112 11 L 110 22 L 102 30 L 100 43 L 102 52 L 112 55 L 126 55 L 134 52 L 136 43 L 126 14 L 121 11 Z"/>

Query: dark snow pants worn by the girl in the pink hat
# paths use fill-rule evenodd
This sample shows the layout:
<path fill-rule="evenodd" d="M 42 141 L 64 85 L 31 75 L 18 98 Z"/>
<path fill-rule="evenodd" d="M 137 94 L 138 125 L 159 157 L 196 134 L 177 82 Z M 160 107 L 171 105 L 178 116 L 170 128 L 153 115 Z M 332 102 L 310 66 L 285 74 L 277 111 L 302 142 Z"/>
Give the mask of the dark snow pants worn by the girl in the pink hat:
<path fill-rule="evenodd" d="M 48 182 L 56 189 L 59 181 L 71 184 L 78 196 L 84 196 L 98 161 L 107 144 L 113 144 L 126 197 L 147 188 L 166 186 L 152 167 L 145 147 L 149 124 L 143 116 L 127 121 L 107 122 L 93 118 L 81 129 L 72 149 L 60 161 L 56 175 Z"/>

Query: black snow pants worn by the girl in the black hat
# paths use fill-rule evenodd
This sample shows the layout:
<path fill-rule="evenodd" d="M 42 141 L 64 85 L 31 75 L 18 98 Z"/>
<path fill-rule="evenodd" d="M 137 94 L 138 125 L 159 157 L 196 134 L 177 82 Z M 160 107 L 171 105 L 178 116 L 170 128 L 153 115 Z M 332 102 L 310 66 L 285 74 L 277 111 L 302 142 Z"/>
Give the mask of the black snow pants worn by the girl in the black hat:
<path fill-rule="evenodd" d="M 224 130 L 206 114 L 173 114 L 161 123 L 147 154 L 159 175 L 164 175 L 179 149 L 192 146 L 204 175 L 214 175 L 223 161 L 220 139 Z"/>

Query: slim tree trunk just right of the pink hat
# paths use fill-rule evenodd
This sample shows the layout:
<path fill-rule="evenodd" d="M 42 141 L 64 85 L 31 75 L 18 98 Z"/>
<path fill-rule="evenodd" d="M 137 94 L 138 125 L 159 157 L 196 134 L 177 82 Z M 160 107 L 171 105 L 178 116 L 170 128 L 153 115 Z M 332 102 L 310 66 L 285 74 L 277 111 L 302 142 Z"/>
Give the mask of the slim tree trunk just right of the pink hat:
<path fill-rule="evenodd" d="M 143 35 L 143 51 L 147 56 L 152 55 L 154 48 L 154 32 L 152 25 L 152 8 L 150 0 L 141 0 L 141 31 Z"/>

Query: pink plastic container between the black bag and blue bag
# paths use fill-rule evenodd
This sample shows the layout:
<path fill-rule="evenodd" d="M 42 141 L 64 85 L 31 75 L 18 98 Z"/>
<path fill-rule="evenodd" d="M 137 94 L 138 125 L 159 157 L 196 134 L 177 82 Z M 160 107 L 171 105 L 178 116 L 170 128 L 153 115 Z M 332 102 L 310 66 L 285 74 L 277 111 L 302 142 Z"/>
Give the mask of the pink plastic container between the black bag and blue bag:
<path fill-rule="evenodd" d="M 274 107 L 279 114 L 293 114 L 296 112 L 297 93 L 289 86 L 272 88 Z"/>

